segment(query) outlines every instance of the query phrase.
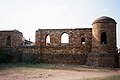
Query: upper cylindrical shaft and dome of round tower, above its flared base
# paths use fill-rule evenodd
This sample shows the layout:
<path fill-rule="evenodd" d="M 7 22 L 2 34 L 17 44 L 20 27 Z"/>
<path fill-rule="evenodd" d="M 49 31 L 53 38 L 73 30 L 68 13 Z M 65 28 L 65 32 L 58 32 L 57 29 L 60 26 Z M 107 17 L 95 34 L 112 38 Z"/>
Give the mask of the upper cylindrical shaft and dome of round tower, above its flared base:
<path fill-rule="evenodd" d="M 92 52 L 103 51 L 116 51 L 116 21 L 106 16 L 92 24 Z"/>

